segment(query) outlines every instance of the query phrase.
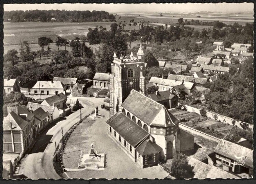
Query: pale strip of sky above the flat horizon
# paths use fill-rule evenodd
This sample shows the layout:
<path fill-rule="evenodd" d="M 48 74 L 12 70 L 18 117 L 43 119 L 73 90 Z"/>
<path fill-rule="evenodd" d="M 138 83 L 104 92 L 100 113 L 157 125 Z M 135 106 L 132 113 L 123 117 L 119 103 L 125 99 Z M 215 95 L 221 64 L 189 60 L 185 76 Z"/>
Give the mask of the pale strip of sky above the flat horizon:
<path fill-rule="evenodd" d="M 97 10 L 107 12 L 253 12 L 253 3 L 217 4 L 5 4 L 4 10 Z"/>

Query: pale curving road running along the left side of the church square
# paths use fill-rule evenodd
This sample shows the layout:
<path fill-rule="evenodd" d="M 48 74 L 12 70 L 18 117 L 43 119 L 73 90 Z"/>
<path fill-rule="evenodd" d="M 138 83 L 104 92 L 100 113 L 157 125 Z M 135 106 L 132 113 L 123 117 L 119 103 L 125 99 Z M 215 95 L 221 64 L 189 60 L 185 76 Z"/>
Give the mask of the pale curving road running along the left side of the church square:
<path fill-rule="evenodd" d="M 83 108 L 81 109 L 82 117 L 94 110 L 95 106 L 103 104 L 103 98 L 78 98 Z M 20 164 L 19 174 L 24 174 L 28 178 L 53 178 L 59 179 L 60 176 L 56 173 L 53 167 L 53 155 L 55 152 L 55 142 L 61 140 L 61 127 L 65 134 L 80 119 L 79 110 L 70 114 L 66 120 L 56 123 L 49 130 L 43 132 L 30 154 L 23 159 Z M 44 149 L 45 148 L 45 149 Z"/>

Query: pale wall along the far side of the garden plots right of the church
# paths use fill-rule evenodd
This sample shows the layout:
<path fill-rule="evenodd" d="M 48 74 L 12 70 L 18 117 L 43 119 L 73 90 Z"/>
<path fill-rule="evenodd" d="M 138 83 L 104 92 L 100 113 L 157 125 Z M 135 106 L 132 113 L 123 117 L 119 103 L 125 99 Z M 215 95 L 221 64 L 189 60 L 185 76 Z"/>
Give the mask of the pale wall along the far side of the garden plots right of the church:
<path fill-rule="evenodd" d="M 201 114 L 201 113 L 200 113 L 200 110 L 201 110 L 202 108 L 196 108 L 196 107 L 192 107 L 192 106 L 189 106 L 189 105 L 184 105 L 184 106 L 186 107 L 186 110 L 187 110 L 188 112 L 195 112 L 195 113 Z M 221 114 L 218 114 L 218 113 L 215 113 L 215 112 L 211 112 L 211 111 L 209 111 L 209 110 L 205 110 L 205 111 L 206 111 L 206 116 L 207 116 L 208 118 L 215 119 L 214 116 L 215 116 L 215 114 L 216 114 L 216 115 L 217 115 L 217 118 L 218 118 L 217 120 L 219 120 L 219 121 L 221 121 L 221 122 L 223 122 L 223 123 L 226 123 L 226 124 L 230 124 L 230 125 L 232 125 L 232 121 L 236 121 L 236 124 L 235 124 L 235 125 L 237 125 L 237 127 L 239 127 L 239 128 L 242 128 L 241 125 L 240 125 L 241 121 L 234 120 L 234 119 L 232 119 L 232 118 L 223 116 L 223 115 L 221 115 Z M 253 129 L 253 125 L 249 124 L 249 128 Z M 242 128 L 242 129 L 243 129 L 243 128 Z"/>

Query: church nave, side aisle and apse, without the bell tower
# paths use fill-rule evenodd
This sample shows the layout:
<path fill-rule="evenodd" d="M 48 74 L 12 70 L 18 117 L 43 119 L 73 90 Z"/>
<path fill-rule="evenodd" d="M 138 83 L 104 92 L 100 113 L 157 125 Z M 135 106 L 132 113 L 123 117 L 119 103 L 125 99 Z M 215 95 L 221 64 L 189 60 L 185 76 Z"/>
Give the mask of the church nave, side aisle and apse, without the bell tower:
<path fill-rule="evenodd" d="M 141 110 L 143 109 L 143 110 Z M 132 89 L 121 109 L 107 122 L 108 133 L 142 168 L 158 164 L 159 159 L 171 158 L 180 148 L 194 149 L 178 140 L 179 120 L 162 104 Z M 187 132 L 185 132 L 187 133 Z"/>

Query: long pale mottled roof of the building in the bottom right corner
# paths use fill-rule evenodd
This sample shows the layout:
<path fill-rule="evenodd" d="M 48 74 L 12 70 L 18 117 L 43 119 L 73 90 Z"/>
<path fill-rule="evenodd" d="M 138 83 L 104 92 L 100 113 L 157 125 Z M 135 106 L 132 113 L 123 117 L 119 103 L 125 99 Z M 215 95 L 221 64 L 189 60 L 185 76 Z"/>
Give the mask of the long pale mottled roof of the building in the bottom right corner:
<path fill-rule="evenodd" d="M 253 150 L 248 149 L 246 147 L 240 146 L 236 143 L 231 143 L 226 140 L 221 140 L 220 143 L 215 148 L 215 152 L 231 158 L 233 160 L 240 160 L 240 157 L 243 156 L 243 160 L 247 167 L 253 168 L 253 159 L 252 159 L 252 152 Z"/>

